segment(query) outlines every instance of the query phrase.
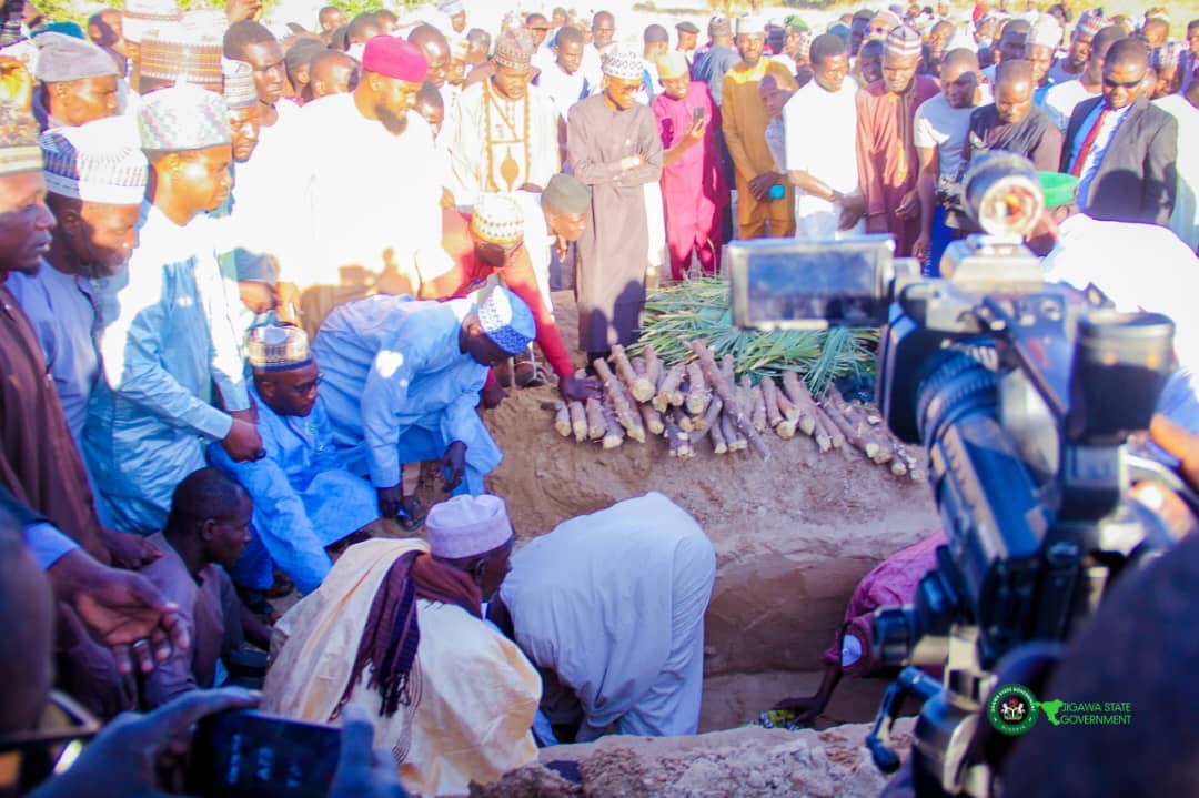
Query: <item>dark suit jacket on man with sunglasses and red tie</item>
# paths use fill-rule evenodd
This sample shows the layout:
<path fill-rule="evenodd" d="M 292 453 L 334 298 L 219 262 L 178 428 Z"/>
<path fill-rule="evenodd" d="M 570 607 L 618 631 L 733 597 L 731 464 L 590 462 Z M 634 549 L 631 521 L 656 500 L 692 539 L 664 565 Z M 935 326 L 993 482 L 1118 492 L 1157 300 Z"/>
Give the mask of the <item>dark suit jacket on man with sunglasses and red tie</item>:
<path fill-rule="evenodd" d="M 1079 128 L 1103 97 L 1074 107 L 1061 147 L 1061 170 L 1070 171 L 1070 153 Z M 1128 109 L 1103 152 L 1085 198 L 1086 214 L 1110 222 L 1167 225 L 1174 211 L 1179 175 L 1179 123 L 1144 95 Z"/>

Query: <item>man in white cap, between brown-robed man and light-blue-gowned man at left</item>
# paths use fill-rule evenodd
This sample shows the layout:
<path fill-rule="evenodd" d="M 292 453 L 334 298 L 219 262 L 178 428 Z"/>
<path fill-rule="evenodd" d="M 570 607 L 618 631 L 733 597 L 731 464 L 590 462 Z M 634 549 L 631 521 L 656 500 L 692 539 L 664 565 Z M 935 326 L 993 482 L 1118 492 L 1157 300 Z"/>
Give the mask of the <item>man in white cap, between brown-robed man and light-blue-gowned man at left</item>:
<path fill-rule="evenodd" d="M 62 415 L 78 442 L 100 379 L 91 280 L 115 274 L 137 247 L 147 168 L 122 120 L 56 128 L 40 144 L 46 204 L 58 226 L 42 267 L 32 276 L 14 273 L 8 290 L 42 345 Z"/>

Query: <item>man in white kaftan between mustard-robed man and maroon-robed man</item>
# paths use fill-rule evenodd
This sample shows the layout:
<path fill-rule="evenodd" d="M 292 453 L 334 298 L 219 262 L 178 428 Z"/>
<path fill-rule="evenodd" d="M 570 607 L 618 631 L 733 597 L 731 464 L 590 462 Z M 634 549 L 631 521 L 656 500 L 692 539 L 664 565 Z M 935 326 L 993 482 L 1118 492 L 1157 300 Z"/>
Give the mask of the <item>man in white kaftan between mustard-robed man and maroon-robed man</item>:
<path fill-rule="evenodd" d="M 836 34 L 812 42 L 812 81 L 783 108 L 787 177 L 795 187 L 799 238 L 861 232 L 866 205 L 857 187 L 857 86 Z"/>

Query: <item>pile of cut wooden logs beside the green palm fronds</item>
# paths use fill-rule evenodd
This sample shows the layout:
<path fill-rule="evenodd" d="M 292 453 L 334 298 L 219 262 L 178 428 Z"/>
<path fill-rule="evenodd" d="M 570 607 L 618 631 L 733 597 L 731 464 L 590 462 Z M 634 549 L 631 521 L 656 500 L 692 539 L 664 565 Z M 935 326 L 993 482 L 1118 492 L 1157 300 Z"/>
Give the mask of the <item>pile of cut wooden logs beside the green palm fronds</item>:
<path fill-rule="evenodd" d="M 813 395 L 794 371 L 778 382 L 770 376 L 758 385 L 748 376 L 737 381 L 731 356 L 717 364 L 699 340 L 691 341 L 691 351 L 694 359 L 667 368 L 652 346 L 634 358 L 613 346 L 610 364 L 594 363 L 603 399 L 558 403 L 554 429 L 605 449 L 626 437 L 644 443 L 662 435 L 670 457 L 682 460 L 695 457 L 705 439 L 716 454 L 752 448 L 767 460 L 763 434 L 770 428 L 783 440 L 806 435 L 820 452 L 849 446 L 896 477 L 927 479 L 921 459 L 891 434 L 876 409 L 848 403 L 832 387 Z"/>

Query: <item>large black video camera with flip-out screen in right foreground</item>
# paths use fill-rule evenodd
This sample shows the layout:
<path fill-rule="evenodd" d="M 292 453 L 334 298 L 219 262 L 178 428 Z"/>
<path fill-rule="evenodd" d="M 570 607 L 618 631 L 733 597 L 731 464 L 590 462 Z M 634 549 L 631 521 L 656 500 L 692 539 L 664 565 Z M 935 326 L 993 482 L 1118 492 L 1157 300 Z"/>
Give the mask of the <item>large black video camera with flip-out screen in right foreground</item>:
<path fill-rule="evenodd" d="M 875 612 L 874 648 L 903 670 L 867 744 L 899 767 L 888 733 L 914 695 L 917 794 L 982 797 L 994 775 L 971 739 L 1000 659 L 1070 637 L 1125 568 L 1170 545 L 1127 497 L 1132 465 L 1150 466 L 1125 445 L 1149 427 L 1174 325 L 1046 282 L 1023 244 L 1044 213 L 1028 161 L 988 153 L 963 197 L 986 232 L 950 246 L 941 279 L 893 258 L 890 236 L 735 242 L 725 262 L 737 326 L 881 328 L 878 404 L 923 445 L 948 545 L 912 605 Z"/>

